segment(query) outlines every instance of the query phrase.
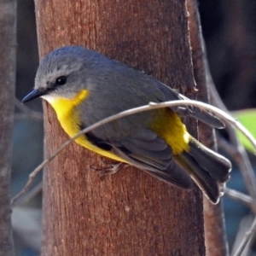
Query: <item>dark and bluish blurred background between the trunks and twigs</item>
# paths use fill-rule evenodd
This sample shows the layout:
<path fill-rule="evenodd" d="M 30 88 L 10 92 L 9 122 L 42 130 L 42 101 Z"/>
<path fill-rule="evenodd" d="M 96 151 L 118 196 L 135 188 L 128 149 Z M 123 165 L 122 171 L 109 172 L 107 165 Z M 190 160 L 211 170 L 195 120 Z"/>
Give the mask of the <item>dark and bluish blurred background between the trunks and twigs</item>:
<path fill-rule="evenodd" d="M 212 78 L 218 93 L 230 110 L 256 107 L 256 1 L 199 1 L 202 32 Z M 18 0 L 18 52 L 16 96 L 19 100 L 32 89 L 38 68 L 38 44 L 33 0 Z M 40 100 L 27 103 L 42 111 Z M 28 174 L 43 160 L 43 121 L 24 119 L 16 109 L 13 155 L 15 195 L 26 183 Z M 35 181 L 40 181 L 41 177 Z M 238 170 L 232 171 L 229 188 L 246 192 Z M 15 207 L 13 224 L 17 255 L 39 255 L 41 195 L 22 207 Z M 224 196 L 227 234 L 232 247 L 241 218 L 249 210 Z M 256 251 L 256 249 L 255 249 Z M 256 255 L 251 252 L 250 255 Z"/>

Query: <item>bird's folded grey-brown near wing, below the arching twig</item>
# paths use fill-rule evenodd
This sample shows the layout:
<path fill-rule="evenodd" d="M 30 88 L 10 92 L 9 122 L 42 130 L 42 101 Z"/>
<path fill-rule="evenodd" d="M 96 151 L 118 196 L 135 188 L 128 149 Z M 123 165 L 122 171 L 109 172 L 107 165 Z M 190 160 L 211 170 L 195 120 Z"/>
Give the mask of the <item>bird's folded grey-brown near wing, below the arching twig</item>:
<path fill-rule="evenodd" d="M 111 143 L 112 151 L 121 158 L 177 187 L 189 189 L 191 178 L 172 157 L 172 148 L 154 131 L 145 129 L 136 137 L 125 137 Z"/>

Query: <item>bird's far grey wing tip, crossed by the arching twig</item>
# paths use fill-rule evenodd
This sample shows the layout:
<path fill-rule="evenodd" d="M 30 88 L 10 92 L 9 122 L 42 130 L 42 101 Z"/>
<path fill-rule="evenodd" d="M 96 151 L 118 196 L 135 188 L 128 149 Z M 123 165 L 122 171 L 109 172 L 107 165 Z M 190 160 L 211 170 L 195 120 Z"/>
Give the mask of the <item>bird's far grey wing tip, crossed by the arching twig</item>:
<path fill-rule="evenodd" d="M 166 101 L 175 101 L 175 100 L 189 100 L 189 98 L 177 93 L 176 90 L 172 90 L 166 84 L 161 84 L 157 81 L 157 87 L 163 93 L 163 97 L 161 97 L 160 102 Z M 190 115 L 195 119 L 201 120 L 203 123 L 210 125 L 214 128 L 223 129 L 225 127 L 224 122 L 214 116 L 212 113 L 207 111 L 202 111 L 200 108 L 195 106 L 179 106 L 171 108 L 174 112 L 176 112 L 179 116 L 185 117 Z"/>

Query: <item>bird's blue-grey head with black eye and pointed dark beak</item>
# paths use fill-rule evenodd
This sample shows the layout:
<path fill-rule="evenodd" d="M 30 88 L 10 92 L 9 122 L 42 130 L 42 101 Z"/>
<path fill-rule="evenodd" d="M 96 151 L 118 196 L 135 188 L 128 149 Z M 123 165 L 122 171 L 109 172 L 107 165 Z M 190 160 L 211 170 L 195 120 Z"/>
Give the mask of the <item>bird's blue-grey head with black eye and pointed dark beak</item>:
<path fill-rule="evenodd" d="M 87 49 L 66 46 L 55 49 L 41 61 L 35 79 L 34 90 L 22 102 L 30 102 L 38 97 L 48 102 L 57 98 L 71 99 L 85 87 Z"/>

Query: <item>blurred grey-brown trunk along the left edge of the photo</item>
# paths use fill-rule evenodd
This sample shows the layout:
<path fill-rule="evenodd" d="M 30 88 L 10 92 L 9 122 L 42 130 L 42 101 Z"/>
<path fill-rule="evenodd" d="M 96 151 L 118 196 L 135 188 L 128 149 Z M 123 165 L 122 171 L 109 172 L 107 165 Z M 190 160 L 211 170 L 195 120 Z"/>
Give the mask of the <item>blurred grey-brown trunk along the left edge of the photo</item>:
<path fill-rule="evenodd" d="M 0 256 L 13 256 L 10 174 L 15 96 L 16 1 L 0 1 Z"/>

